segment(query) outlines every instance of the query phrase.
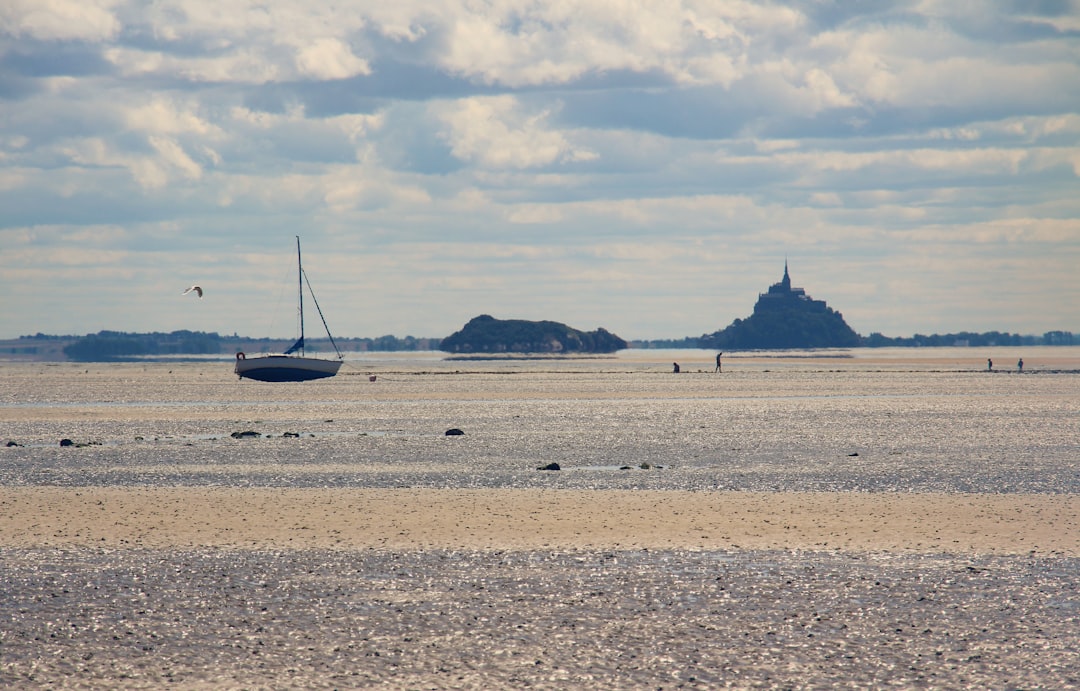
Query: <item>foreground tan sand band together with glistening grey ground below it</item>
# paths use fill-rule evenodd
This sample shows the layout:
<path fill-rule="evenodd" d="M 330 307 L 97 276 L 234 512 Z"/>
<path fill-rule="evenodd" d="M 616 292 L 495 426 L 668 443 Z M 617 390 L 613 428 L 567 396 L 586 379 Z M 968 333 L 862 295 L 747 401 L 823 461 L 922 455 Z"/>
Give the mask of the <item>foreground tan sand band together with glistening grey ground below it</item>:
<path fill-rule="evenodd" d="M 0 685 L 1076 688 L 1078 509 L 4 487 Z"/>

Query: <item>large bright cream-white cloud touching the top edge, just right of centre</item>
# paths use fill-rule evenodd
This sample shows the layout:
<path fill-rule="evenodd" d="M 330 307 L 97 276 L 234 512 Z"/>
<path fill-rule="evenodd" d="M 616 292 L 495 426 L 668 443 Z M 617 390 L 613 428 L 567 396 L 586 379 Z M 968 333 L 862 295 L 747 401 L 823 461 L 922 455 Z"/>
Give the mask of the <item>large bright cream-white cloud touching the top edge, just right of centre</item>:
<path fill-rule="evenodd" d="M 417 24 L 397 16 L 389 31 L 409 38 Z M 793 9 L 754 2 L 605 0 L 505 2 L 442 15 L 443 64 L 486 83 L 565 83 L 612 70 L 657 71 L 680 83 L 730 85 L 746 72 L 755 33 L 795 30 Z M 401 27 L 407 24 L 409 29 Z M 422 33 L 423 31 L 419 31 Z"/>

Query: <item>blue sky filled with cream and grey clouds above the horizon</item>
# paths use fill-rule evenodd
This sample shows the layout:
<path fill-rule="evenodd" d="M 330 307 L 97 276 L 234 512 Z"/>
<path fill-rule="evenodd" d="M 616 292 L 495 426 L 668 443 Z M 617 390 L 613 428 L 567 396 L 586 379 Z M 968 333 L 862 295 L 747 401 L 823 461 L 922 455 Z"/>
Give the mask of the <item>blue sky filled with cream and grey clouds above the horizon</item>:
<path fill-rule="evenodd" d="M 336 337 L 700 336 L 785 261 L 1080 333 L 1080 0 L 0 3 L 0 338 L 291 337 L 297 235 Z"/>

